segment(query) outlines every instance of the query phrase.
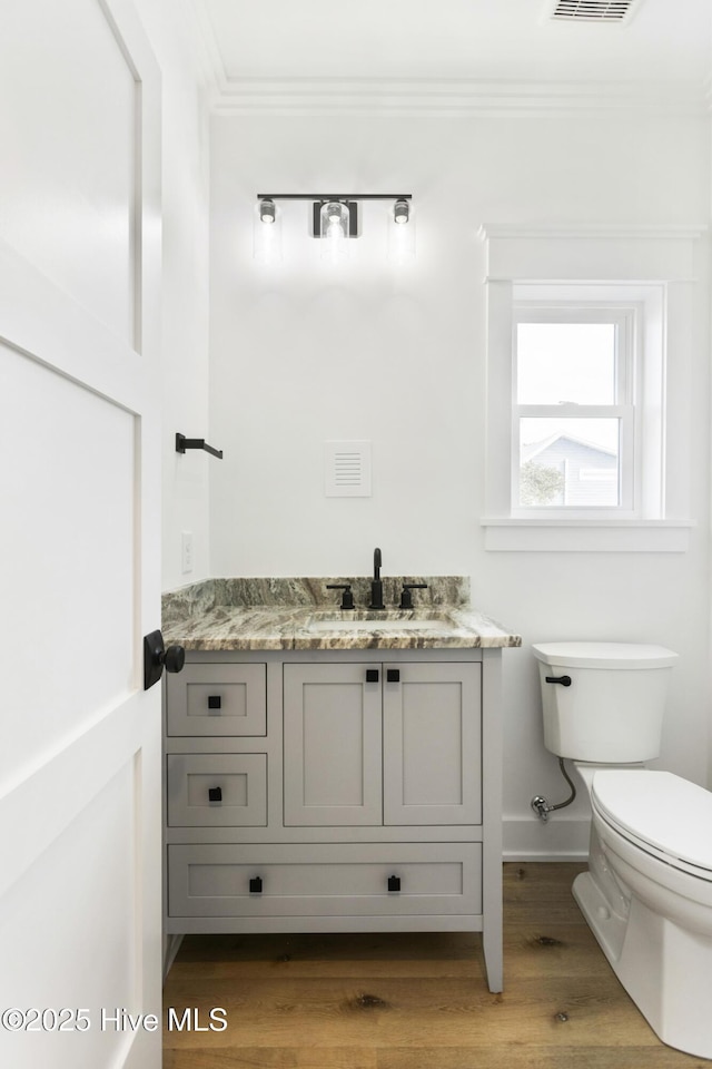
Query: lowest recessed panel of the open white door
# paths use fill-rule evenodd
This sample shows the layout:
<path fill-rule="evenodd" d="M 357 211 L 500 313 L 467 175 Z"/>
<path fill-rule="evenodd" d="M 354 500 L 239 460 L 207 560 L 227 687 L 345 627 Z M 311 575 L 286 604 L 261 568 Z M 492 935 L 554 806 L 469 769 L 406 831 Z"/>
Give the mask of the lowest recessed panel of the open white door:
<path fill-rule="evenodd" d="M 126 1046 L 127 1036 L 121 1031 L 110 1028 L 101 1034 L 100 1008 L 125 1006 L 127 993 L 134 1004 L 140 1003 L 136 971 L 140 948 L 131 923 L 139 852 L 134 830 L 123 818 L 134 810 L 136 798 L 136 772 L 130 759 L 2 900 L 0 940 L 3 954 L 8 954 L 4 960 L 12 962 L 11 1004 L 86 1009 L 91 1028 L 86 1033 L 77 1030 L 59 1037 L 62 1056 L 71 1058 L 67 1065 L 77 1069 L 109 1065 Z M 97 850 L 99 834 L 111 843 L 110 852 Z M 67 873 L 66 879 L 58 880 L 58 872 Z M 100 896 L 100 911 L 96 896 Z M 71 949 L 66 945 L 69 932 L 73 933 Z M 62 959 L 57 953 L 60 949 L 71 958 Z M 42 951 L 46 964 L 38 973 Z M 56 1001 L 58 992 L 61 1007 Z M 58 1036 L 49 1029 L 3 1034 L 6 1063 L 30 1065 L 26 1050 L 29 1041 L 34 1065 L 65 1063 L 57 1060 Z"/>

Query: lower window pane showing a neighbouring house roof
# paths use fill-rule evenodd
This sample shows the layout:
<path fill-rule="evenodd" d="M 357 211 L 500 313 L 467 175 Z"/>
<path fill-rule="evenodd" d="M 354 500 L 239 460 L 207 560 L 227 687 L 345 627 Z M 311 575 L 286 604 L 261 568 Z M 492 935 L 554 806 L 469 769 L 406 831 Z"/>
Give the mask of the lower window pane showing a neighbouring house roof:
<path fill-rule="evenodd" d="M 520 507 L 620 504 L 620 420 L 520 420 Z"/>

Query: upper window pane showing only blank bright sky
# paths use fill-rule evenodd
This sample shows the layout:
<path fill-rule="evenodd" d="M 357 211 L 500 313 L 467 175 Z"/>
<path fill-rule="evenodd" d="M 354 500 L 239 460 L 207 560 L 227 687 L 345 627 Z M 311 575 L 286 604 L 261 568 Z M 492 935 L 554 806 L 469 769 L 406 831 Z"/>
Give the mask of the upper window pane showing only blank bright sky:
<path fill-rule="evenodd" d="M 518 323 L 520 404 L 615 404 L 615 323 Z"/>

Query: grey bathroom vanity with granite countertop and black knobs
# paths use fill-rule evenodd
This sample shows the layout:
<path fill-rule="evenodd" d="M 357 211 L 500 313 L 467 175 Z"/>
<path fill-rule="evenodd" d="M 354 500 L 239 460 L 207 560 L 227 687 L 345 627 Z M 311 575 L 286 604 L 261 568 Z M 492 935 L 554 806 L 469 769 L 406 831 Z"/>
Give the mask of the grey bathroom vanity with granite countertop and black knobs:
<path fill-rule="evenodd" d="M 500 991 L 501 651 L 521 639 L 461 579 L 376 618 L 326 601 L 332 581 L 167 596 L 186 647 L 166 686 L 167 932 L 481 931 Z"/>

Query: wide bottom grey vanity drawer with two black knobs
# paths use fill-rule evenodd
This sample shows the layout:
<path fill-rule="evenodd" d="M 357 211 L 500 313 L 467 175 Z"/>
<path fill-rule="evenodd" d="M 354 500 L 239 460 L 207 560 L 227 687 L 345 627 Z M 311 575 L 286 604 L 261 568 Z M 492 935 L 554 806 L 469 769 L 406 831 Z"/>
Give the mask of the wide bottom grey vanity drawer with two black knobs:
<path fill-rule="evenodd" d="M 478 843 L 169 846 L 169 914 L 479 914 L 481 850 Z M 388 889 L 393 877 L 399 890 Z"/>

